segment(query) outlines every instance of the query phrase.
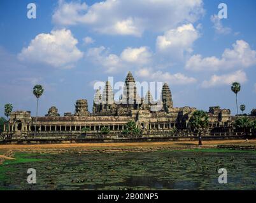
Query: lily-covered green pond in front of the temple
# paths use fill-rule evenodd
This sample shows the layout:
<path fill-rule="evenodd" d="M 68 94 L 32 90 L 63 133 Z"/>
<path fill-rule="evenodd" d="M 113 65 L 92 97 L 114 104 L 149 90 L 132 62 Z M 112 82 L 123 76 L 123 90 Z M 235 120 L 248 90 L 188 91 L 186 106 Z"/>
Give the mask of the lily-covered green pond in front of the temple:
<path fill-rule="evenodd" d="M 1 190 L 255 190 L 256 153 L 221 149 L 16 153 L 0 165 Z M 36 169 L 36 184 L 27 169 Z M 227 184 L 218 169 L 227 169 Z"/>

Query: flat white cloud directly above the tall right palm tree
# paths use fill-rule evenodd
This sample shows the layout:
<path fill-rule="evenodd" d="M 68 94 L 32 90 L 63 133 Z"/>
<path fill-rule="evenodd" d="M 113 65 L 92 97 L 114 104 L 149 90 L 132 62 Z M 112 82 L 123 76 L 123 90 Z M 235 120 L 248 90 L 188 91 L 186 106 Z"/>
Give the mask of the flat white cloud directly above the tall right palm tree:
<path fill-rule="evenodd" d="M 224 75 L 213 75 L 209 81 L 203 81 L 203 88 L 210 88 L 213 86 L 222 86 L 222 85 L 231 85 L 232 82 L 241 82 L 244 83 L 247 81 L 245 72 L 238 70 L 231 74 Z"/>

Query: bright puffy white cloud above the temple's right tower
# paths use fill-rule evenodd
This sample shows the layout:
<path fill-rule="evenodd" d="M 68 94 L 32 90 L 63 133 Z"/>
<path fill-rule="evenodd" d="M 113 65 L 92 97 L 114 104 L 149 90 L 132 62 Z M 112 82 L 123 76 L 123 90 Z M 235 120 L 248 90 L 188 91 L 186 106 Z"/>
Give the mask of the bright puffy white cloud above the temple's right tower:
<path fill-rule="evenodd" d="M 185 51 L 192 51 L 192 45 L 198 37 L 199 32 L 189 23 L 176 29 L 168 30 L 163 36 L 158 36 L 156 47 L 160 52 L 183 56 Z"/>

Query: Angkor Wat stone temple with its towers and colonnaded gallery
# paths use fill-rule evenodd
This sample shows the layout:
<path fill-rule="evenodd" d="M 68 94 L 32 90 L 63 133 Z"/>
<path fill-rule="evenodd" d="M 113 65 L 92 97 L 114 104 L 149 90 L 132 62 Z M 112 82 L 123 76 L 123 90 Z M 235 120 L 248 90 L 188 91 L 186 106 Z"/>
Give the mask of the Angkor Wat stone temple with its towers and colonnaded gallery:
<path fill-rule="evenodd" d="M 88 128 L 91 134 L 97 134 L 103 126 L 110 129 L 110 134 L 121 134 L 129 121 L 136 122 L 143 134 L 163 134 L 172 132 L 173 129 L 188 131 L 188 121 L 196 108 L 173 107 L 167 83 L 162 86 L 159 102 L 153 101 L 150 91 L 145 98 L 140 98 L 137 92 L 134 77 L 129 72 L 123 95 L 119 102 L 115 102 L 110 82 L 107 81 L 103 92 L 98 90 L 94 96 L 92 113 L 89 112 L 85 99 L 76 101 L 75 114 L 66 112 L 60 116 L 57 108 L 51 107 L 45 117 L 38 117 L 36 134 L 81 134 L 83 128 Z M 209 133 L 231 131 L 232 117 L 229 109 L 210 107 L 208 115 Z M 17 138 L 29 136 L 35 131 L 35 122 L 36 117 L 32 117 L 29 111 L 11 112 L 9 129 L 5 126 L 4 130 Z"/>

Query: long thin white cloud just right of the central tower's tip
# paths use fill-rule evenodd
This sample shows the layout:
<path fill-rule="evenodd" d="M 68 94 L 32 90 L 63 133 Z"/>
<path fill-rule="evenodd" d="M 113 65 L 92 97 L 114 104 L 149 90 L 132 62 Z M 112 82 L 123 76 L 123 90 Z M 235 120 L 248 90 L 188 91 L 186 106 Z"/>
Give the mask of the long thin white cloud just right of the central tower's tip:
<path fill-rule="evenodd" d="M 146 68 L 136 71 L 136 75 L 147 80 L 169 82 L 170 84 L 191 84 L 196 82 L 194 77 L 187 77 L 181 73 L 170 74 L 160 70 L 154 72 L 153 69 Z"/>

